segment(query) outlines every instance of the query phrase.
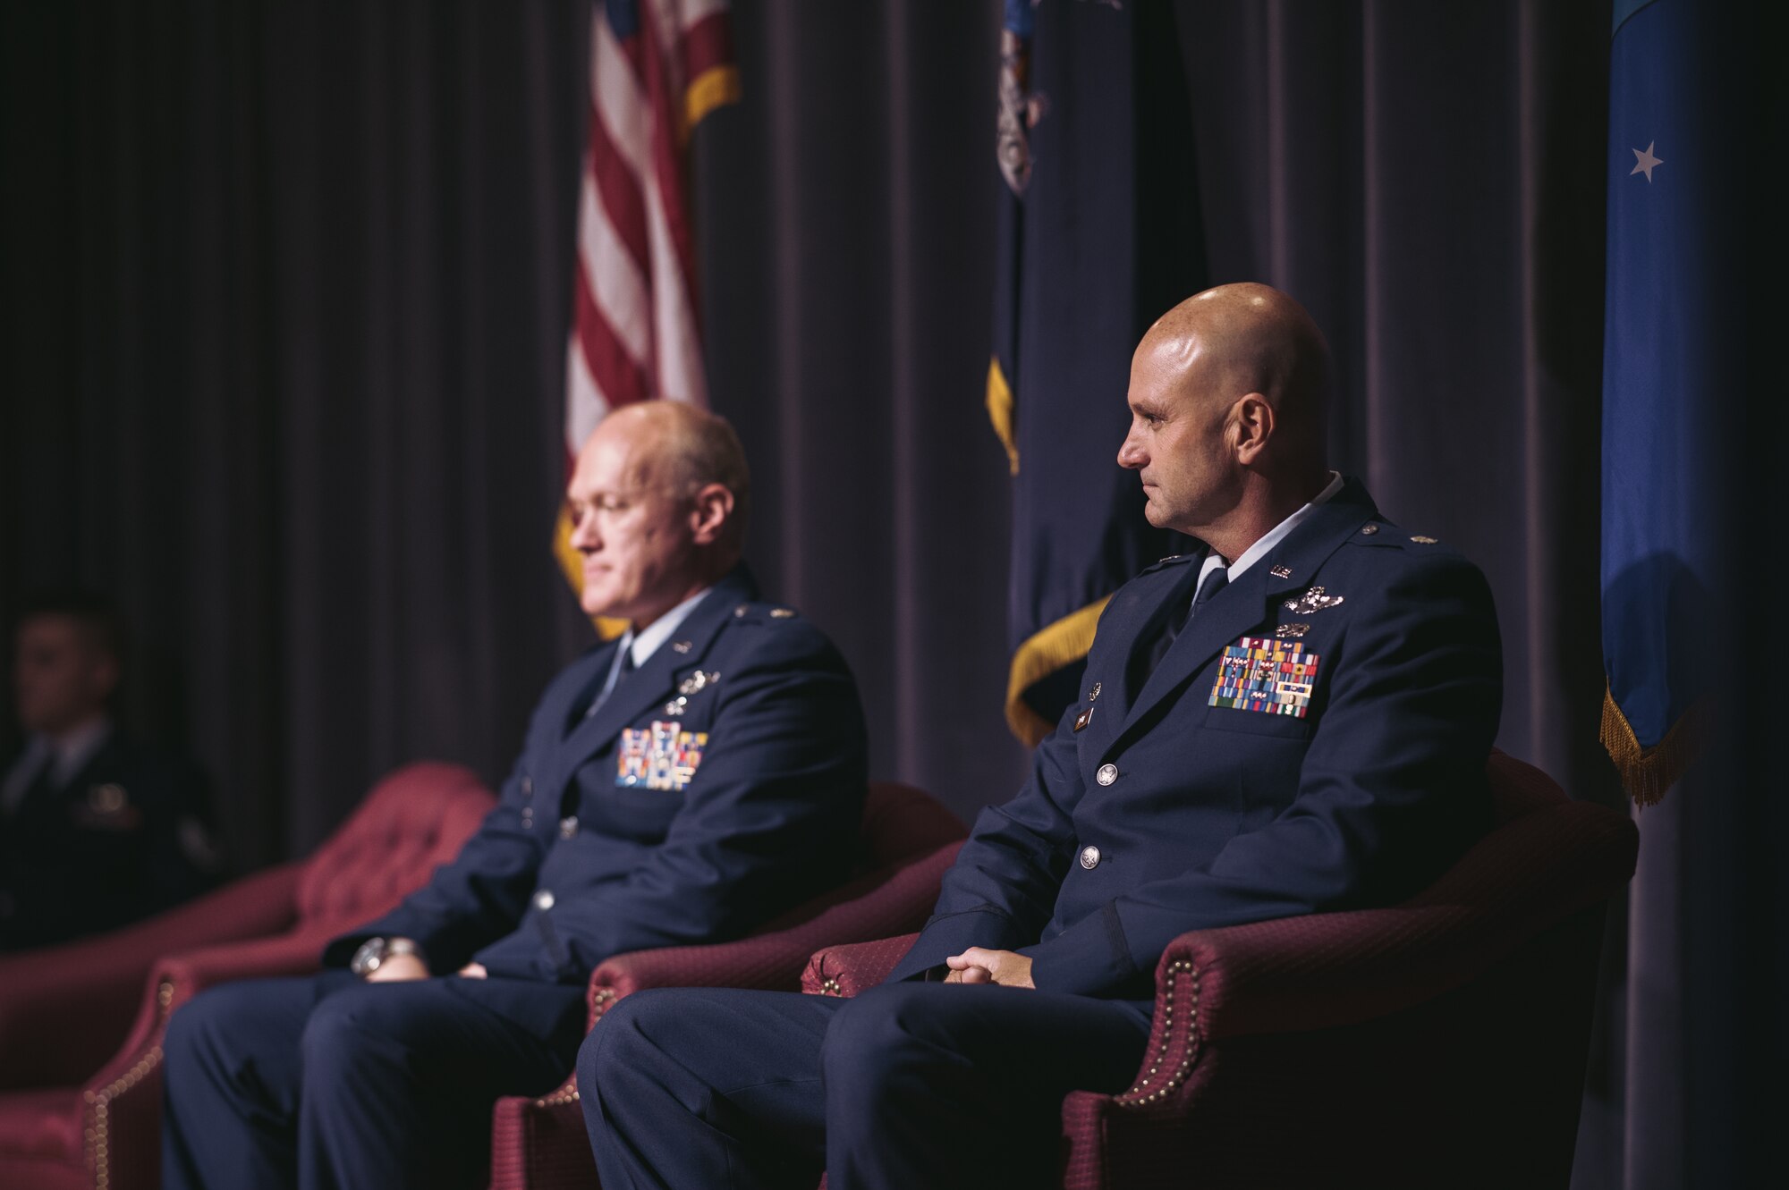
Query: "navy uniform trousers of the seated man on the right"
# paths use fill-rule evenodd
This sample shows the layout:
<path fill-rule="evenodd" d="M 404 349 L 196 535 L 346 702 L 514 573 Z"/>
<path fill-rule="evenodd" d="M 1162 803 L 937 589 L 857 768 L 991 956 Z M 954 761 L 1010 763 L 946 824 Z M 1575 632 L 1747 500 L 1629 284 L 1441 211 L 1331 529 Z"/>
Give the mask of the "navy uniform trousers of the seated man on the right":
<path fill-rule="evenodd" d="M 1149 1001 L 896 983 L 855 999 L 676 988 L 578 1054 L 605 1190 L 1061 1185 L 1070 1090 L 1120 1092 Z"/>

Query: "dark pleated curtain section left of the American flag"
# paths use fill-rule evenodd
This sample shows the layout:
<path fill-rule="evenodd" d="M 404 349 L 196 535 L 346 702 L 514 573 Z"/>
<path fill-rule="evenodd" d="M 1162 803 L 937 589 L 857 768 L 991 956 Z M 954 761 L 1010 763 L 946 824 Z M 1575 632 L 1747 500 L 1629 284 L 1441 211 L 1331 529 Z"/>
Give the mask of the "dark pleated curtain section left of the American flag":
<path fill-rule="evenodd" d="M 238 867 L 406 759 L 499 777 L 590 640 L 546 549 L 581 7 L 4 20 L 0 613 L 118 599 L 123 718 Z"/>

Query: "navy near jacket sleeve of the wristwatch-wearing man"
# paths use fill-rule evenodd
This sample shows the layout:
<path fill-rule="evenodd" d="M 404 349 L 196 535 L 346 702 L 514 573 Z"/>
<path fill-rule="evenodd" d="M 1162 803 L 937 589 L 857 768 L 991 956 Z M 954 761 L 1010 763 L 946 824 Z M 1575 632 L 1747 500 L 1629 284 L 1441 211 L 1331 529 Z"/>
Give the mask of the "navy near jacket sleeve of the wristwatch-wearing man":
<path fill-rule="evenodd" d="M 805 622 L 762 633 L 716 688 L 701 767 L 666 838 L 592 895 L 551 909 L 562 979 L 612 954 L 742 934 L 835 886 L 857 859 L 868 745 L 857 684 Z M 478 954 L 490 974 L 540 977 L 535 931 Z"/>

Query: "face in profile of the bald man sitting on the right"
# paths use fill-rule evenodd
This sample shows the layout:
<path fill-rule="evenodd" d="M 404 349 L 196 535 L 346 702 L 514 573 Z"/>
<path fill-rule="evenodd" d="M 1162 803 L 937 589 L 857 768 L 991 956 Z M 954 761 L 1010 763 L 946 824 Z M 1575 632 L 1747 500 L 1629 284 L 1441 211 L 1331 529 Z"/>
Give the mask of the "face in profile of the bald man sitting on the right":
<path fill-rule="evenodd" d="M 1225 441 L 1229 402 L 1197 341 L 1145 336 L 1131 359 L 1131 431 L 1118 465 L 1138 472 L 1157 529 L 1195 532 L 1231 504 L 1238 472 Z"/>

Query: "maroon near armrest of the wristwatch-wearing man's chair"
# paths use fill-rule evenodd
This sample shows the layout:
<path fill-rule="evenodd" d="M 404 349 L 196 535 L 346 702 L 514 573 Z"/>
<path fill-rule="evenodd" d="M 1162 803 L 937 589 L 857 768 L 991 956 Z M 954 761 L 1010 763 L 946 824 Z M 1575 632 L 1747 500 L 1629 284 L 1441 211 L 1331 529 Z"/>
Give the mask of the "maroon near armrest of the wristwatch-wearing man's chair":
<path fill-rule="evenodd" d="M 932 911 L 937 883 L 961 845 L 946 843 L 923 859 L 859 877 L 750 938 L 608 958 L 590 972 L 590 1026 L 596 1026 L 610 1004 L 640 988 L 793 992 L 801 986 L 801 972 L 816 947 L 920 926 Z"/>

